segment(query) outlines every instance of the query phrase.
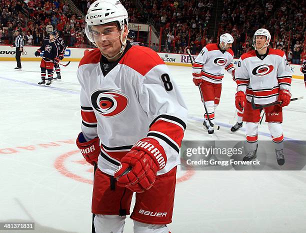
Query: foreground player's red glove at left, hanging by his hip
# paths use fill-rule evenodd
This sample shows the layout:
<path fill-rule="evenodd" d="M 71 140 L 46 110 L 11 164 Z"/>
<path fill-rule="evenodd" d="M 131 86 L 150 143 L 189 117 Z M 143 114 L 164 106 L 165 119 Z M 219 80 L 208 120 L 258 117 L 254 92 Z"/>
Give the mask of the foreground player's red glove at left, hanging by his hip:
<path fill-rule="evenodd" d="M 83 133 L 80 132 L 76 138 L 76 145 L 81 151 L 83 157 L 91 165 L 97 164 L 97 158 L 100 154 L 99 138 L 95 137 L 90 141 L 85 141 Z"/>

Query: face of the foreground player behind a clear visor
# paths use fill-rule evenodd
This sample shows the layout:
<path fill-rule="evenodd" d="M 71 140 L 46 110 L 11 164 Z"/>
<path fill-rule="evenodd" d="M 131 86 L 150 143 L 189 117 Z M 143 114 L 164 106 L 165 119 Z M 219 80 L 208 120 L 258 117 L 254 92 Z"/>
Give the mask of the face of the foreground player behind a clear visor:
<path fill-rule="evenodd" d="M 117 24 L 115 22 L 92 26 L 91 33 L 94 42 L 103 54 L 111 57 L 120 51 L 121 31 L 118 30 Z M 123 31 L 123 38 L 125 36 L 127 36 L 126 26 L 124 27 Z"/>

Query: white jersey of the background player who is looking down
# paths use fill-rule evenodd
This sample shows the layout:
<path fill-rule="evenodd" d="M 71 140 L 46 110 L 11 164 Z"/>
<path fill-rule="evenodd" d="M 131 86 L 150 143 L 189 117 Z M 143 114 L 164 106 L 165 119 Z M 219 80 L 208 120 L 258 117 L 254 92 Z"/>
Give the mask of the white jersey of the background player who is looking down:
<path fill-rule="evenodd" d="M 232 74 L 233 51 L 221 50 L 219 44 L 209 43 L 197 55 L 192 65 L 192 76 L 212 83 L 221 83 L 225 70 Z"/>

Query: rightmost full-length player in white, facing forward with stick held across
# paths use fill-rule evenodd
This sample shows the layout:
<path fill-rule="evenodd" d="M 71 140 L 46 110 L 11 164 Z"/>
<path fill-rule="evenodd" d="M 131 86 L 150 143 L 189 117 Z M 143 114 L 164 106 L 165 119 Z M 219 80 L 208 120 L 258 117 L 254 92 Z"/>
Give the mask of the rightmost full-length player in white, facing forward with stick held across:
<path fill-rule="evenodd" d="M 281 104 L 264 108 L 272 140 L 275 145 L 277 163 L 284 164 L 282 107 L 290 102 L 290 83 L 292 72 L 282 50 L 268 48 L 271 35 L 267 29 L 256 30 L 253 36 L 255 50 L 241 55 L 235 71 L 237 93 L 235 105 L 238 110 L 244 109 L 243 121 L 246 127 L 246 141 L 249 152 L 244 161 L 256 158 L 257 128 L 259 109 L 252 109 L 251 98 L 255 104 L 267 104 L 281 101 Z"/>

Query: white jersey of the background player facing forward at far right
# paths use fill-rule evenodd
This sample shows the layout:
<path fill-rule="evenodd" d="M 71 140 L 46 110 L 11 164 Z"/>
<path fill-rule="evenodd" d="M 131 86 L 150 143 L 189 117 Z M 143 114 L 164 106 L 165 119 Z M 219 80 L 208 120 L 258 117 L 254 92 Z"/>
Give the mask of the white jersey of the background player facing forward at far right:
<path fill-rule="evenodd" d="M 257 104 L 277 100 L 280 89 L 290 91 L 292 71 L 282 50 L 268 48 L 260 55 L 252 50 L 243 53 L 235 70 L 237 91 L 246 93 L 246 99 Z"/>

